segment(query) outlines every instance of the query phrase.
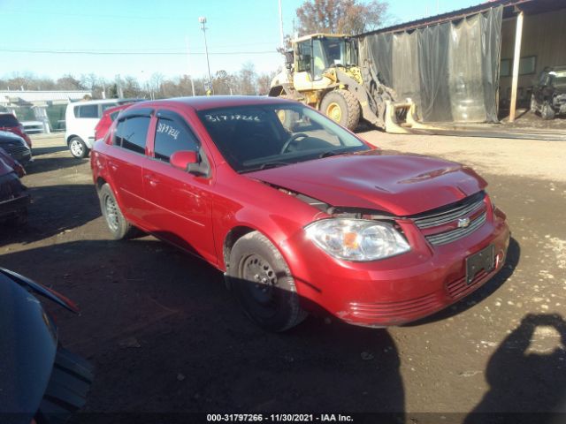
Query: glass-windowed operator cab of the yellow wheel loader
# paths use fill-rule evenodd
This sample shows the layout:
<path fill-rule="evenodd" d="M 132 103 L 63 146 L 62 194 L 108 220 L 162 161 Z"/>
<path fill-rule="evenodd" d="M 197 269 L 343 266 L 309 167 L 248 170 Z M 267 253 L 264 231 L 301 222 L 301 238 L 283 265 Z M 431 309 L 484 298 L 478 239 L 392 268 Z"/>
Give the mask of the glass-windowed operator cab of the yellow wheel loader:
<path fill-rule="evenodd" d="M 345 35 L 307 35 L 294 42 L 294 60 L 294 87 L 322 88 L 329 83 L 323 77 L 326 69 L 357 64 L 356 41 Z"/>

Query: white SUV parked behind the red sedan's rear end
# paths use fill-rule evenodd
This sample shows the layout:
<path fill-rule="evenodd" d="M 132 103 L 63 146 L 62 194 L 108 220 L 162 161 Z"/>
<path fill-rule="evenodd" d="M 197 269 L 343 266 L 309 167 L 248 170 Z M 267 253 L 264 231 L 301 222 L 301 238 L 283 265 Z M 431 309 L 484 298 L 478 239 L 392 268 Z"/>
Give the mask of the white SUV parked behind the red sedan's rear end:
<path fill-rule="evenodd" d="M 95 127 L 104 110 L 139 99 L 103 99 L 73 102 L 65 110 L 65 143 L 74 157 L 87 157 L 95 142 Z"/>

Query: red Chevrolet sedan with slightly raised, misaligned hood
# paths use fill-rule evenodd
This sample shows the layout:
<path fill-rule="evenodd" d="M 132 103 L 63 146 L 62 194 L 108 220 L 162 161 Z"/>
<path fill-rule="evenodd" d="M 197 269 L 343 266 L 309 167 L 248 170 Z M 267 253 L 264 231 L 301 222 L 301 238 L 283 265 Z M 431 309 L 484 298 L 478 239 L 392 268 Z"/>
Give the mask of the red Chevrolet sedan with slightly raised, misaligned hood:
<path fill-rule="evenodd" d="M 363 326 L 417 320 L 486 283 L 509 246 L 470 168 L 385 154 L 276 98 L 136 103 L 91 164 L 114 239 L 137 228 L 201 256 L 275 331 L 313 306 Z"/>

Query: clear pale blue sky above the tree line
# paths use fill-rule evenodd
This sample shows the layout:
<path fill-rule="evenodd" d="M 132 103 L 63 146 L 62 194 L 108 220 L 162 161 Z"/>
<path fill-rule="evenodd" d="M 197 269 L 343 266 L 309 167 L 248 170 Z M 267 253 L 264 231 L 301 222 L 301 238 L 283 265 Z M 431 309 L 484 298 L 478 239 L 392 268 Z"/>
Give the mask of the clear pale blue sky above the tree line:
<path fill-rule="evenodd" d="M 303 0 L 281 2 L 284 30 L 290 34 Z M 478 3 L 392 0 L 389 11 L 394 22 L 406 22 Z M 200 16 L 208 19 L 213 74 L 238 71 L 245 62 L 253 63 L 257 72 L 269 72 L 282 63 L 275 52 L 278 0 L 0 0 L 0 16 L 0 77 L 13 72 L 50 78 L 92 72 L 107 79 L 133 75 L 142 81 L 154 72 L 203 76 Z"/>

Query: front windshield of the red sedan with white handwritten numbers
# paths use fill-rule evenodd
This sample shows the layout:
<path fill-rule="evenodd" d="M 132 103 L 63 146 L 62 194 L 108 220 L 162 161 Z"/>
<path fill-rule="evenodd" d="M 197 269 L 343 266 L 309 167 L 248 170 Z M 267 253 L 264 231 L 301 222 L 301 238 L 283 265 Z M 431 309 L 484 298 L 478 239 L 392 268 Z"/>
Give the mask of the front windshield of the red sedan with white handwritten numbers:
<path fill-rule="evenodd" d="M 370 148 L 299 103 L 202 110 L 198 115 L 233 170 L 247 172 Z"/>

